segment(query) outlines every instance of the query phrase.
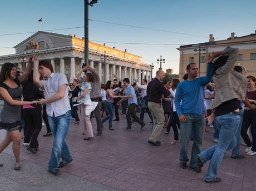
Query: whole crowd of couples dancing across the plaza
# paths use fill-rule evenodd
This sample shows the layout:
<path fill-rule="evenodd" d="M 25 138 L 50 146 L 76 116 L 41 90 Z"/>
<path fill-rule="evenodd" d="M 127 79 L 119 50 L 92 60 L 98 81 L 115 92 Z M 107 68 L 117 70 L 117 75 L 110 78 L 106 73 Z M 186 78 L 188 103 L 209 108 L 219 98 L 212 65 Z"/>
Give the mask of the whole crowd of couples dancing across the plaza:
<path fill-rule="evenodd" d="M 25 123 L 23 145 L 34 154 L 39 150 L 37 138 L 43 120 L 47 127 L 43 136 L 53 135 L 48 172 L 57 175 L 61 167 L 72 162 L 65 142 L 70 121 L 83 125 L 83 140 L 92 140 L 93 117 L 97 123 L 96 135 L 100 136 L 107 121 L 108 129 L 115 130 L 112 121 L 120 121 L 119 114 L 126 114 L 125 131 L 134 128 L 132 122 L 139 123 L 139 130 L 143 130 L 147 113 L 152 123 L 150 145 L 160 146 L 162 130 L 166 129 L 164 134 L 168 135 L 172 127 L 174 139 L 170 144 L 180 145 L 180 167 L 186 169 L 190 160 L 189 167 L 200 173 L 204 163 L 210 160 L 205 182 L 220 182 L 217 170 L 225 152 L 233 149 L 233 159 L 244 158 L 240 153 L 240 136 L 247 145 L 245 152 L 256 154 L 256 78 L 245 78 L 242 68 L 234 66 L 238 54 L 239 49 L 230 47 L 211 52 L 205 77 L 198 77 L 197 64 L 189 63 L 183 82 L 174 78 L 166 84 L 163 83 L 165 72 L 161 69 L 150 82 L 142 79 L 140 84 L 138 79 L 119 79 L 113 74 L 102 84 L 99 74 L 83 64 L 71 85 L 64 74 L 54 73 L 51 63 L 39 61 L 36 55 L 29 59 L 22 75 L 13 63 L 5 63 L 0 73 L 0 94 L 4 100 L 0 129 L 6 129 L 7 134 L 0 144 L 0 153 L 13 142 L 14 169 L 21 169 L 21 120 Z M 216 144 L 202 151 L 209 125 L 214 128 Z M 190 140 L 193 146 L 189 159 Z"/>

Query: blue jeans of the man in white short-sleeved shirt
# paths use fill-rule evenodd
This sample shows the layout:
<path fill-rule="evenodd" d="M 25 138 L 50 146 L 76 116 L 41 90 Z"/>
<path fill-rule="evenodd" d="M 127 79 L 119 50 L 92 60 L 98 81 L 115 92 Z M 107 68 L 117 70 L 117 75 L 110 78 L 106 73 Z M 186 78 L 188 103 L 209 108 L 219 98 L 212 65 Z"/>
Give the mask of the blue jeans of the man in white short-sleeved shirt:
<path fill-rule="evenodd" d="M 55 117 L 54 114 L 53 117 L 48 115 L 48 121 L 54 138 L 51 159 L 48 164 L 49 170 L 58 168 L 60 158 L 62 158 L 64 163 L 72 159 L 65 142 L 68 127 L 70 126 L 70 117 L 71 110 L 68 110 L 68 112 L 58 117 Z"/>

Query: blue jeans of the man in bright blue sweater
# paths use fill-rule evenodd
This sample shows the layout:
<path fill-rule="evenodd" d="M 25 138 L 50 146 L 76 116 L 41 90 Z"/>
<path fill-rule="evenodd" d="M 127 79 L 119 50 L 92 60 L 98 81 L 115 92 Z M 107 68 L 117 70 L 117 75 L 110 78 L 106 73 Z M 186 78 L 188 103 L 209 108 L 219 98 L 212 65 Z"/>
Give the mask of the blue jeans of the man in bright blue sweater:
<path fill-rule="evenodd" d="M 201 152 L 204 139 L 205 117 L 204 114 L 185 114 L 186 122 L 180 123 L 180 162 L 186 163 L 188 159 L 188 145 L 193 130 L 194 143 L 191 152 L 190 167 L 196 167 L 196 155 Z"/>

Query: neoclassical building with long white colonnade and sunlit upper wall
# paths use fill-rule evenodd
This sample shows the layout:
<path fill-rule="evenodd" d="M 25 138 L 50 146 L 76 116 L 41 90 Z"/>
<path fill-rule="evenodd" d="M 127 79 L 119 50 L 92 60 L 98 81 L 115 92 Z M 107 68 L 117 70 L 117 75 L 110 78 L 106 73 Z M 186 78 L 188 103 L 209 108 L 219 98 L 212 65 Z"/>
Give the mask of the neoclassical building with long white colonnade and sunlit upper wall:
<path fill-rule="evenodd" d="M 84 63 L 84 41 L 75 35 L 63 35 L 38 31 L 15 47 L 16 53 L 0 56 L 0 67 L 3 63 L 12 62 L 24 69 L 26 61 L 33 54 L 39 59 L 51 61 L 55 73 L 63 73 L 71 81 L 81 71 Z M 89 42 L 89 64 L 99 74 L 102 83 L 106 83 L 112 74 L 119 78 L 150 80 L 151 68 L 142 63 L 141 57 L 115 47 L 107 47 Z"/>

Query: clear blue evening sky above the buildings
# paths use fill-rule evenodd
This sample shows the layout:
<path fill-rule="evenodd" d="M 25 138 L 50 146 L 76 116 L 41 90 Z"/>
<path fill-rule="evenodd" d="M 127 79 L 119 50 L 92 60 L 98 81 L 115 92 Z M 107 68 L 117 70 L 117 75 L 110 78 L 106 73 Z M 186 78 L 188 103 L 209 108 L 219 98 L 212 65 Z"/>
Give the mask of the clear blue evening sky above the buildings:
<path fill-rule="evenodd" d="M 89 0 L 90 1 L 90 0 Z M 14 47 L 36 31 L 83 27 L 83 0 L 8 0 L 0 2 L 0 56 L 15 53 Z M 230 33 L 245 36 L 256 30 L 256 1 L 98 0 L 89 7 L 89 40 L 137 54 L 141 61 L 179 73 L 179 51 L 183 44 L 227 39 Z M 103 21 L 103 22 L 96 22 Z M 120 26 L 104 22 L 120 23 Z M 145 28 L 157 29 L 150 30 Z M 32 32 L 17 35 L 11 33 Z M 83 37 L 83 28 L 52 31 Z M 186 33 L 186 34 L 180 34 Z M 116 42 L 116 43 L 114 43 Z M 125 44 L 139 43 L 139 44 Z M 160 45 L 156 45 L 160 44 Z M 168 44 L 168 45 L 164 45 Z M 154 76 L 154 75 L 153 75 Z"/>

